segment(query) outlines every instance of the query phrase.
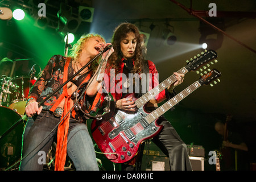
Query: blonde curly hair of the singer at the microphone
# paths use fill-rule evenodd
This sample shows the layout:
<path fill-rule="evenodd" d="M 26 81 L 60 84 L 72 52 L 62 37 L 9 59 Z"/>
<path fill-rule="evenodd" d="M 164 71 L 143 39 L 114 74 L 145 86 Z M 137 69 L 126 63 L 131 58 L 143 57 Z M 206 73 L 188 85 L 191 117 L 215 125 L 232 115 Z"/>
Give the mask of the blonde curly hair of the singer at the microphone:
<path fill-rule="evenodd" d="M 80 54 L 82 52 L 82 49 L 86 47 L 86 43 L 90 38 L 100 38 L 102 42 L 105 42 L 105 39 L 99 35 L 99 34 L 84 34 L 81 36 L 81 38 L 77 41 L 76 44 L 73 45 L 71 52 L 69 53 L 69 57 L 71 57 L 76 63 L 79 61 Z M 98 68 L 98 65 L 100 64 L 101 56 L 99 56 L 95 61 L 92 63 L 92 70 L 93 72 L 96 71 Z"/>

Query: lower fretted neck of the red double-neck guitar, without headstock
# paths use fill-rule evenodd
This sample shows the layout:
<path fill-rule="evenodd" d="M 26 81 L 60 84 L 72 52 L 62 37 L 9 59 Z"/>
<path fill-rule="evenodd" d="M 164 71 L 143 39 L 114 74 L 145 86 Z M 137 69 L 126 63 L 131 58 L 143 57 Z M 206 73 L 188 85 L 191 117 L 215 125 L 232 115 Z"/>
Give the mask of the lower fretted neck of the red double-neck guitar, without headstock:
<path fill-rule="evenodd" d="M 152 113 L 148 114 L 145 119 L 150 124 L 155 121 L 155 119 L 159 118 L 161 115 L 166 113 L 169 109 L 171 109 L 173 106 L 175 106 L 177 103 L 179 103 L 181 100 L 183 100 L 185 97 L 187 97 L 189 94 L 191 94 L 193 91 L 195 91 L 197 88 L 199 88 L 201 84 L 199 81 L 194 82 L 192 85 L 188 86 L 186 89 L 184 89 L 182 92 L 177 94 L 175 97 L 171 98 L 171 100 L 164 103 L 162 106 L 158 107 L 158 109 L 152 111 Z"/>

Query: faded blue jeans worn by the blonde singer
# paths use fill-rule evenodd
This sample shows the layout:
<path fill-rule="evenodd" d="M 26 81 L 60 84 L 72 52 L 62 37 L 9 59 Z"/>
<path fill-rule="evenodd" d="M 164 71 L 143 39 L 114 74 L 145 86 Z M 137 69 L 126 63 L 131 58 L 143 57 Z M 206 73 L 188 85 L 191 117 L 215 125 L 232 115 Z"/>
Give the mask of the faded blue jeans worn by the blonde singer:
<path fill-rule="evenodd" d="M 40 113 L 36 118 L 28 118 L 23 133 L 20 171 L 43 169 L 42 157 L 48 154 L 53 139 L 56 138 L 55 126 L 59 122 L 60 118 L 48 111 Z M 67 153 L 77 171 L 98 171 L 96 154 L 87 126 L 73 118 L 69 121 Z"/>

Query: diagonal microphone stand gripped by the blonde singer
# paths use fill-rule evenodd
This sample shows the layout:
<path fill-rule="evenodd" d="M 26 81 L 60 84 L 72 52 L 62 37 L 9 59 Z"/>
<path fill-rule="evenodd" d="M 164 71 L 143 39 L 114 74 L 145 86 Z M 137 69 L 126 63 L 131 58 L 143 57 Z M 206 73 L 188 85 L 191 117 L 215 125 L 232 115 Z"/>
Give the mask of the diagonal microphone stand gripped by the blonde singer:
<path fill-rule="evenodd" d="M 42 103 L 46 102 L 49 98 L 51 98 L 53 96 L 53 94 L 55 94 L 56 92 L 58 92 L 61 88 L 63 88 L 64 85 L 66 85 L 71 79 L 73 79 L 74 77 L 76 77 L 81 71 L 83 71 L 86 67 L 88 67 L 88 65 L 90 63 L 92 63 L 92 61 L 96 60 L 98 56 L 102 55 L 102 53 L 106 52 L 110 47 L 105 47 L 104 50 L 102 50 L 100 53 L 98 53 L 98 55 L 96 55 L 92 60 L 90 60 L 87 64 L 84 65 L 84 67 L 82 67 L 79 71 L 77 71 L 72 77 L 70 77 L 67 81 L 65 81 L 62 85 L 59 86 L 59 88 L 57 88 L 52 94 L 50 94 L 48 97 L 46 97 L 42 102 L 40 102 L 38 104 L 38 107 L 41 106 Z M 25 121 L 27 119 L 27 114 L 23 115 L 22 118 L 20 118 L 18 121 L 16 121 L 13 126 L 9 127 L 8 130 L 5 131 L 5 133 L 3 133 L 0 136 L 0 140 L 5 137 L 7 134 L 10 133 L 11 130 L 13 130 L 16 126 L 19 125 L 20 122 Z"/>

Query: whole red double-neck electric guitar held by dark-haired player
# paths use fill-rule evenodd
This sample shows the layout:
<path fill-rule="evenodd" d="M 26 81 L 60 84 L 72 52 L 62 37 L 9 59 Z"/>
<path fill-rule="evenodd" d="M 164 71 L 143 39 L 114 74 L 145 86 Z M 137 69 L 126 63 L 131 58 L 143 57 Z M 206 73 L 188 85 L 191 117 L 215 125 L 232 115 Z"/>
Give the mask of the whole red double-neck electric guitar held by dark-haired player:
<path fill-rule="evenodd" d="M 185 67 L 177 72 L 185 74 L 189 71 L 195 71 L 216 57 L 216 52 L 212 50 L 207 51 L 190 61 Z M 196 81 L 187 89 L 183 90 L 183 92 L 167 101 L 166 104 L 160 106 L 152 113 L 147 113 L 144 111 L 143 105 L 176 81 L 174 75 L 168 77 L 154 89 L 150 90 L 150 92 L 144 94 L 137 100 L 134 97 L 135 104 L 138 108 L 136 113 L 130 114 L 121 110 L 118 110 L 117 113 L 110 111 L 110 113 L 105 114 L 100 121 L 94 119 L 91 125 L 93 139 L 98 148 L 104 152 L 106 158 L 112 160 L 112 162 L 130 162 L 137 154 L 141 142 L 152 138 L 159 133 L 162 127 L 156 124 L 156 119 L 158 119 L 160 115 L 171 109 L 171 107 L 183 100 L 183 98 L 192 93 L 200 85 L 208 84 L 208 82 L 214 80 L 218 76 L 220 76 L 220 73 L 217 70 L 211 71 L 200 78 L 199 81 Z M 129 95 L 128 97 L 131 96 L 133 95 Z"/>

